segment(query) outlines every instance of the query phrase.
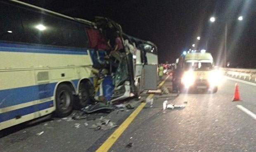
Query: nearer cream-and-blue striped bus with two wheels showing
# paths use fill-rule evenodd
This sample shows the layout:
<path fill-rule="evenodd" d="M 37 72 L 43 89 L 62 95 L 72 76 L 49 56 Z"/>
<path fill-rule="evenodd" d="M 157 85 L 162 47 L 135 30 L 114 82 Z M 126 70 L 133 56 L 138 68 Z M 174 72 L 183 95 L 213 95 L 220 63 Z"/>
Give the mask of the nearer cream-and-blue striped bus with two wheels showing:
<path fill-rule="evenodd" d="M 85 106 L 93 23 L 16 0 L 0 1 L 0 14 L 0 130 Z"/>

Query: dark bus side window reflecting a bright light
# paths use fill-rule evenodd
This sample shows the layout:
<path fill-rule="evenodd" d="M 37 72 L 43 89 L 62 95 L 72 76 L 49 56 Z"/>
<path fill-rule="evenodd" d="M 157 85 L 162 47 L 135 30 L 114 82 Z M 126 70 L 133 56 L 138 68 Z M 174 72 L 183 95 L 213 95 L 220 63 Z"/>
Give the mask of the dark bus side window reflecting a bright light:
<path fill-rule="evenodd" d="M 32 9 L 22 9 L 21 13 L 28 43 L 88 47 L 86 29 L 81 24 Z"/>

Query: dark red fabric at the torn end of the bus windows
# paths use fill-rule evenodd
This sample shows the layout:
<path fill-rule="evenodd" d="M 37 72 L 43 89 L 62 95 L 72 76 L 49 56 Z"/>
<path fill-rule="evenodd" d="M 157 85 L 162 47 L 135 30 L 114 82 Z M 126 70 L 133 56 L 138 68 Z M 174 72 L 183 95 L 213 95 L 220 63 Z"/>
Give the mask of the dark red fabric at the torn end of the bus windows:
<path fill-rule="evenodd" d="M 89 37 L 90 48 L 94 48 L 95 50 L 107 49 L 106 41 L 98 30 L 92 29 L 92 28 L 86 28 L 86 31 Z"/>

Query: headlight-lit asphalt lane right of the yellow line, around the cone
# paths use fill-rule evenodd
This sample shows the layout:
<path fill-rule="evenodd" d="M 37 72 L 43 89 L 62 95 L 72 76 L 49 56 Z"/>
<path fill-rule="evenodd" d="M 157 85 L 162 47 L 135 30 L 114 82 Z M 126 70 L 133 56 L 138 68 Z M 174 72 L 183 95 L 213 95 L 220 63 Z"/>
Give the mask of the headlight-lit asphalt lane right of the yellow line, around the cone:
<path fill-rule="evenodd" d="M 180 94 L 169 103 L 184 109 L 162 110 L 154 100 L 120 136 L 110 152 L 255 152 L 256 120 L 241 111 L 256 112 L 256 87 L 239 83 L 242 101 L 232 102 L 236 81 L 226 80 L 216 94 Z M 154 96 L 156 97 L 156 95 Z M 128 143 L 134 143 L 130 148 Z"/>

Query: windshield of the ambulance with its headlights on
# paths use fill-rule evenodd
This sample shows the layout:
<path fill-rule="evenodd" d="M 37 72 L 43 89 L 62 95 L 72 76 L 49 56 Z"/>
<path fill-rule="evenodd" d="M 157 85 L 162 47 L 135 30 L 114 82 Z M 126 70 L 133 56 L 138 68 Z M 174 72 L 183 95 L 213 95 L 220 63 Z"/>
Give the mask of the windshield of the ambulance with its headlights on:
<path fill-rule="evenodd" d="M 209 62 L 185 62 L 184 67 L 186 71 L 210 71 L 213 69 L 213 64 Z"/>

